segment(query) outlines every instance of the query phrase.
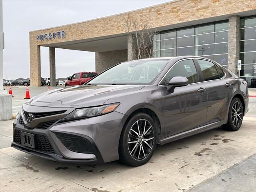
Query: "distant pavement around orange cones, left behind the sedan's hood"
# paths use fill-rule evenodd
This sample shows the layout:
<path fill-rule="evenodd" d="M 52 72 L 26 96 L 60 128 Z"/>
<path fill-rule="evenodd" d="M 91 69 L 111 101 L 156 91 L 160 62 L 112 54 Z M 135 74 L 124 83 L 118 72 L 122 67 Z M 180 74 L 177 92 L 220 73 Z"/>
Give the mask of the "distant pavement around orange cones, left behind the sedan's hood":
<path fill-rule="evenodd" d="M 56 86 L 56 87 L 50 87 L 50 90 L 61 88 L 63 86 Z M 6 90 L 9 91 L 9 86 L 4 86 Z M 27 99 L 24 99 L 26 96 L 26 86 L 12 86 L 12 95 L 14 96 L 12 98 L 12 114 L 16 115 L 22 104 L 24 104 Z M 37 96 L 38 94 L 41 94 L 43 92 L 48 91 L 48 86 L 42 86 L 42 87 L 28 87 L 30 97 Z"/>

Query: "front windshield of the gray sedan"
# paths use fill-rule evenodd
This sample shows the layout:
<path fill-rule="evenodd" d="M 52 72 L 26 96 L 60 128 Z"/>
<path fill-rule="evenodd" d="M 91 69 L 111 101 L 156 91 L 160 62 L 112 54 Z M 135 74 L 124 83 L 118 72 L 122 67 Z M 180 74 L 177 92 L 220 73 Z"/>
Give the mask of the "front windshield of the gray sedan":
<path fill-rule="evenodd" d="M 152 84 L 168 60 L 135 60 L 120 63 L 88 84 Z"/>

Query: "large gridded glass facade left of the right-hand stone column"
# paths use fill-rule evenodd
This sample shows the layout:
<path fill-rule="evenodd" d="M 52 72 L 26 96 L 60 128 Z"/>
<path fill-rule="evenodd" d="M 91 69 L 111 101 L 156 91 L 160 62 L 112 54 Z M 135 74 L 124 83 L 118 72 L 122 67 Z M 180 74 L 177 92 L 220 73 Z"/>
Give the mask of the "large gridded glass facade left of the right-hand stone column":
<path fill-rule="evenodd" d="M 154 36 L 154 57 L 204 56 L 228 66 L 228 20 L 163 31 Z"/>

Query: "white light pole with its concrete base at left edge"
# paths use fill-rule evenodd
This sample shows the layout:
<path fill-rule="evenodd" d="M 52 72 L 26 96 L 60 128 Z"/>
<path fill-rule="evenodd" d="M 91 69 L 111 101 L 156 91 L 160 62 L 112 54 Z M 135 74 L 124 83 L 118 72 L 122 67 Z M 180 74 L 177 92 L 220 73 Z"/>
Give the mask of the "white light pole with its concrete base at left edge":
<path fill-rule="evenodd" d="M 12 119 L 12 95 L 4 90 L 3 0 L 0 0 L 0 121 Z"/>

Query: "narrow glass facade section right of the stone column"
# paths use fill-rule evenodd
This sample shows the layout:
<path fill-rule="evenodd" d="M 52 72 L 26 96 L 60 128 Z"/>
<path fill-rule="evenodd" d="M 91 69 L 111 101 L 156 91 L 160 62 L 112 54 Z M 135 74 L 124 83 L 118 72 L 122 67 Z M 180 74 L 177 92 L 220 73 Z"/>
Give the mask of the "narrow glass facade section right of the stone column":
<path fill-rule="evenodd" d="M 240 60 L 240 77 L 256 88 L 256 16 L 240 19 Z"/>

